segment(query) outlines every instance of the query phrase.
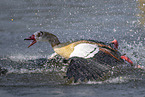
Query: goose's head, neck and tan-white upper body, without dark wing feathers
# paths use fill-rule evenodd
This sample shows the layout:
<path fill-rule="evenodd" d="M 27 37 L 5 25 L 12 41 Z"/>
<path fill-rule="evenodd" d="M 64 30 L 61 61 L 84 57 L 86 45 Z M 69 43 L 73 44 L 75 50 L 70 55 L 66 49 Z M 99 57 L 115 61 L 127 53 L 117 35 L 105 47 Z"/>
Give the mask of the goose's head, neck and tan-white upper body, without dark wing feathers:
<path fill-rule="evenodd" d="M 55 35 L 43 31 L 37 31 L 32 36 L 25 38 L 24 40 L 33 40 L 33 42 L 28 47 L 32 46 L 38 41 L 49 42 L 53 50 L 66 59 L 71 57 L 91 58 L 99 51 L 103 51 L 119 60 L 115 53 L 111 53 L 117 52 L 117 50 L 113 49 L 109 44 L 99 41 L 80 40 L 72 43 L 60 43 Z"/>

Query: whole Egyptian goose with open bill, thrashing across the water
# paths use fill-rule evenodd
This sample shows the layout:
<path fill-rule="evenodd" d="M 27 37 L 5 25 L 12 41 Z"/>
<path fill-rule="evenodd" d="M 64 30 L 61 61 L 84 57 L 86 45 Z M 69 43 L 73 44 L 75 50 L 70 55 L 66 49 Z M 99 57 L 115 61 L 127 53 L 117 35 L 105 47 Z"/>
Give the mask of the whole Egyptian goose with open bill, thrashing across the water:
<path fill-rule="evenodd" d="M 71 60 L 66 76 L 68 79 L 73 77 L 75 81 L 78 79 L 81 81 L 85 79 L 97 80 L 104 75 L 104 72 L 108 72 L 110 67 L 124 63 L 121 54 L 112 46 L 114 42 L 79 40 L 71 43 L 60 43 L 55 35 L 44 31 L 37 31 L 24 40 L 33 40 L 28 47 L 38 41 L 49 42 L 57 54 Z"/>

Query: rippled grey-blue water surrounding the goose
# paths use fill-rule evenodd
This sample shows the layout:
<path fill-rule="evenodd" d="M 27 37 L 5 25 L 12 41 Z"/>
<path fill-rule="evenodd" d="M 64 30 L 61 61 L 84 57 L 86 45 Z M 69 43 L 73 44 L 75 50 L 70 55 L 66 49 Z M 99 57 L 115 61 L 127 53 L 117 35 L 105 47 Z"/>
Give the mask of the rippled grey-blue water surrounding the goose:
<path fill-rule="evenodd" d="M 23 40 L 38 30 L 57 35 L 61 42 L 117 39 L 122 54 L 145 66 L 144 4 L 143 0 L 1 0 L 0 65 L 8 69 L 0 76 L 1 96 L 145 97 L 143 71 L 65 85 L 63 73 L 46 64 L 51 46 L 39 42 L 27 48 L 29 42 Z"/>

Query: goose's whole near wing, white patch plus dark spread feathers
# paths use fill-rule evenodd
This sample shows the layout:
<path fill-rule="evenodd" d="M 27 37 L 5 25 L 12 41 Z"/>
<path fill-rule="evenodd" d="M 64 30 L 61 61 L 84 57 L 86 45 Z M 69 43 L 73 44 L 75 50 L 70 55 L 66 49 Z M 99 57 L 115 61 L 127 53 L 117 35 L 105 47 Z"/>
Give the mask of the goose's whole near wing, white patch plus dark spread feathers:
<path fill-rule="evenodd" d="M 120 53 L 110 44 L 86 42 L 77 44 L 70 55 L 66 76 L 74 81 L 101 79 L 113 66 L 122 64 Z"/>

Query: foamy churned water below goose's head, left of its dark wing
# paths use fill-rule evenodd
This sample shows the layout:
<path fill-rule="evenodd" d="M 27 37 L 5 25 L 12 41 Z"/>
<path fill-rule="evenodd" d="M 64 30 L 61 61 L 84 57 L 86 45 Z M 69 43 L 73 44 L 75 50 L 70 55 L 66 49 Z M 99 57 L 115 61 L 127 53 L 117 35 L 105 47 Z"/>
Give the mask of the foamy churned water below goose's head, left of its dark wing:
<path fill-rule="evenodd" d="M 66 72 L 68 64 L 63 64 L 62 61 L 63 58 L 56 54 L 44 58 L 22 54 L 0 58 L 1 66 L 7 68 L 9 74 Z"/>

